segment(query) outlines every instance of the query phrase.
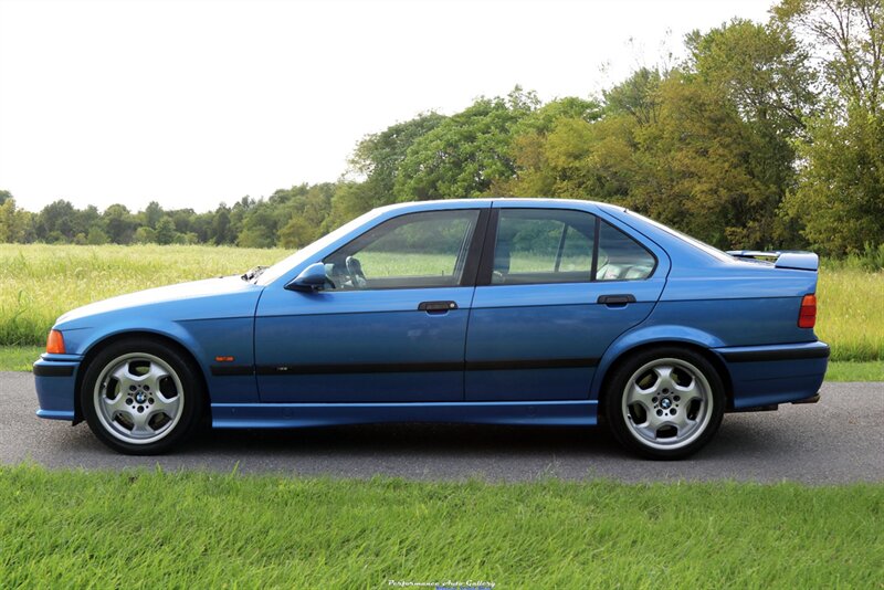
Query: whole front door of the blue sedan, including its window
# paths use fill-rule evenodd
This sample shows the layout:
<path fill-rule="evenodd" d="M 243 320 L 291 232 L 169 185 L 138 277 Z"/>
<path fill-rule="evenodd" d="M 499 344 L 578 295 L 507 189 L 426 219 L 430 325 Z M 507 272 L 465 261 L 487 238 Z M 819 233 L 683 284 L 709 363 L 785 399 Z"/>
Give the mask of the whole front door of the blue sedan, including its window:
<path fill-rule="evenodd" d="M 327 288 L 265 293 L 255 318 L 261 401 L 462 401 L 487 214 L 390 219 L 322 261 Z"/>

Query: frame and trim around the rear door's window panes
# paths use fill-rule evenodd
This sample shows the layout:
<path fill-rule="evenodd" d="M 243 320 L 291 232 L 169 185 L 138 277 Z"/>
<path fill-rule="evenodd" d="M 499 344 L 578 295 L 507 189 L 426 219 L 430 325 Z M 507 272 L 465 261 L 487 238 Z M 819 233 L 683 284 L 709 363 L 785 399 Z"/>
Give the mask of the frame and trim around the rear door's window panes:
<path fill-rule="evenodd" d="M 538 281 L 536 283 L 492 283 L 492 275 L 494 274 L 494 251 L 497 246 L 497 229 L 499 228 L 501 222 L 501 211 L 573 211 L 577 213 L 583 213 L 587 215 L 592 215 L 596 219 L 596 228 L 594 228 L 594 236 L 592 241 L 592 264 L 590 266 L 590 277 L 589 281 L 560 281 L 560 282 L 549 282 L 549 281 Z M 612 281 L 600 281 L 596 278 L 596 274 L 598 273 L 598 261 L 599 261 L 599 235 L 601 234 L 601 224 L 606 223 L 611 226 L 613 230 L 619 231 L 634 243 L 636 243 L 642 250 L 648 252 L 651 257 L 654 260 L 654 265 L 651 268 L 651 272 L 644 278 L 617 278 Z M 638 282 L 638 281 L 649 281 L 653 278 L 654 273 L 660 266 L 660 259 L 657 259 L 656 254 L 654 254 L 651 249 L 644 245 L 641 241 L 636 240 L 629 233 L 624 232 L 613 223 L 608 222 L 607 220 L 602 220 L 597 213 L 591 211 L 586 211 L 583 209 L 572 209 L 572 208 L 565 208 L 565 207 L 495 207 L 491 210 L 491 217 L 487 221 L 487 229 L 486 229 L 486 238 L 484 247 L 482 249 L 482 259 L 478 264 L 478 275 L 476 276 L 476 286 L 477 287 L 485 287 L 485 286 L 523 286 L 523 285 L 573 285 L 573 284 L 583 284 L 583 283 L 623 283 L 623 282 Z"/>

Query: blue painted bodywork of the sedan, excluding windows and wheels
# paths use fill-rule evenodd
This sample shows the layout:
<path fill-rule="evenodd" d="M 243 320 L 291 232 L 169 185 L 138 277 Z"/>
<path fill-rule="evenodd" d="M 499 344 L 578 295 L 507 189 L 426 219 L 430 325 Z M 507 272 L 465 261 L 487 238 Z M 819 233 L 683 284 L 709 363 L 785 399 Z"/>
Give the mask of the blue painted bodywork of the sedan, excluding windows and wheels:
<path fill-rule="evenodd" d="M 394 217 L 502 208 L 592 213 L 644 245 L 657 266 L 643 281 L 316 293 L 285 288 L 311 264 Z M 67 354 L 44 355 L 38 364 L 70 365 L 74 375 L 35 377 L 38 414 L 73 420 L 80 364 L 108 338 L 136 333 L 166 338 L 193 357 L 219 428 L 387 421 L 594 424 L 604 377 L 614 364 L 639 347 L 661 344 L 713 356 L 726 369 L 723 377 L 736 409 L 807 399 L 822 381 L 825 358 L 735 362 L 725 357 L 728 351 L 771 350 L 800 356 L 808 347 L 824 347 L 812 329 L 797 326 L 801 297 L 815 292 L 817 272 L 809 270 L 815 268 L 814 259 L 783 254 L 775 264 L 727 256 L 641 215 L 589 201 L 390 206 L 306 246 L 254 282 L 232 276 L 186 283 L 63 315 L 54 328 L 64 335 Z M 598 303 L 599 296 L 623 294 L 635 303 Z M 427 301 L 452 301 L 457 308 L 419 310 Z M 233 357 L 231 365 L 243 370 L 212 375 L 215 357 Z M 475 365 L 496 361 L 502 365 L 494 369 Z M 402 370 L 390 370 L 397 364 Z M 287 366 L 312 365 L 358 365 L 365 372 L 281 375 Z M 369 370 L 372 365 L 386 369 Z M 436 365 L 446 368 L 436 370 Z"/>

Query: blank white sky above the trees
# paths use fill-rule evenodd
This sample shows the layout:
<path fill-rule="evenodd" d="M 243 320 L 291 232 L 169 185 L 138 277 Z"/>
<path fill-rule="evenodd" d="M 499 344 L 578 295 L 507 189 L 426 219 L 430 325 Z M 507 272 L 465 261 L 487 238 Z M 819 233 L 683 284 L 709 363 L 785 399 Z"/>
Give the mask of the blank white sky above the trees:
<path fill-rule="evenodd" d="M 368 133 L 516 84 L 590 96 L 771 3 L 0 0 L 0 189 L 204 211 L 332 181 Z"/>

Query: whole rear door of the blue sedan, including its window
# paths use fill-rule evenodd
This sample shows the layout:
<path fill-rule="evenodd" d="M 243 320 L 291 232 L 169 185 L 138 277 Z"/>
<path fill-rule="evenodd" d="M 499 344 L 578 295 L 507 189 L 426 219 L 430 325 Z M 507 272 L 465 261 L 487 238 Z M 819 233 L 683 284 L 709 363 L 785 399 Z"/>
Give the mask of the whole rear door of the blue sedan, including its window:
<path fill-rule="evenodd" d="M 624 230 L 590 210 L 494 203 L 466 337 L 467 401 L 589 397 L 604 350 L 665 284 L 665 254 Z"/>

